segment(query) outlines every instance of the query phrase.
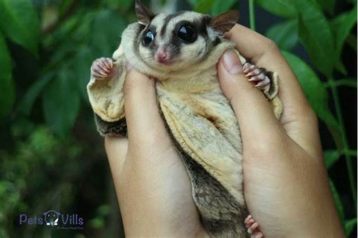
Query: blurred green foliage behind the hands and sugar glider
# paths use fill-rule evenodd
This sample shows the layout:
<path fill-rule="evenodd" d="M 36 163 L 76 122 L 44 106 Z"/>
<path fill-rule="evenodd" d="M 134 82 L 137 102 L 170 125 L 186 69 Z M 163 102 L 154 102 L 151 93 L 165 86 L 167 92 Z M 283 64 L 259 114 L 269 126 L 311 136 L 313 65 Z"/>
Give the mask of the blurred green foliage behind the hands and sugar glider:
<path fill-rule="evenodd" d="M 136 19 L 133 2 L 0 0 L 0 237 L 123 235 L 85 86 L 92 61 L 110 56 L 123 29 Z M 195 11 L 211 14 L 238 6 L 237 0 L 187 2 Z M 266 36 L 280 47 L 331 133 L 335 148 L 324 153 L 327 169 L 345 159 L 355 206 L 348 209 L 356 210 L 352 159 L 357 152 L 349 148 L 337 91 L 341 86 L 357 87 L 342 58 L 345 45 L 356 55 L 352 30 L 356 1 L 347 2 L 350 9 L 341 13 L 335 11 L 335 0 L 256 0 L 255 4 L 283 19 Z M 304 46 L 308 62 L 293 53 L 299 45 Z M 345 215 L 333 180 L 331 189 L 349 236 L 357 220 Z M 48 209 L 82 214 L 84 230 L 19 228 L 19 213 L 41 214 Z"/>

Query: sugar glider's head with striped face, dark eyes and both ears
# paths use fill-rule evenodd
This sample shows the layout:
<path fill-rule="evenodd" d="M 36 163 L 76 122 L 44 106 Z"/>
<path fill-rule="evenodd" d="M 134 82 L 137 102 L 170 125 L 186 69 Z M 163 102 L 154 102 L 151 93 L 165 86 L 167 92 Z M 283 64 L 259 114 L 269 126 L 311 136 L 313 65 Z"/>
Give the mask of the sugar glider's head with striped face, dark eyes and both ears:
<path fill-rule="evenodd" d="M 180 70 L 204 60 L 237 22 L 238 11 L 216 17 L 182 11 L 154 15 L 140 0 L 136 14 L 141 25 L 137 49 L 150 67 Z"/>

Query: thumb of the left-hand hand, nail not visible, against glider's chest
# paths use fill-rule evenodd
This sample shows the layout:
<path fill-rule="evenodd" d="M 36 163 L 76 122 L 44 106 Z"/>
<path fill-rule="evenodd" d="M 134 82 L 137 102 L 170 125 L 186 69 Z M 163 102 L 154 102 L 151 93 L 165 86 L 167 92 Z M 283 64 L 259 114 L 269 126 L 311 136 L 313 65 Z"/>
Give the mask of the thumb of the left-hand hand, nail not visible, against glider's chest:
<path fill-rule="evenodd" d="M 171 146 L 156 101 L 155 81 L 129 70 L 124 84 L 124 107 L 129 144 L 161 148 Z"/>

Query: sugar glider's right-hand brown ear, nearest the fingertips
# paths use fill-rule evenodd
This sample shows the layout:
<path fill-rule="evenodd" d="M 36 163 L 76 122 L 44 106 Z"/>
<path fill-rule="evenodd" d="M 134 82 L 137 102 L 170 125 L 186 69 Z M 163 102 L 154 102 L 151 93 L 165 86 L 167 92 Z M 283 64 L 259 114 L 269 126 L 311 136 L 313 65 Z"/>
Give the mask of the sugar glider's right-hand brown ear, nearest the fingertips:
<path fill-rule="evenodd" d="M 237 10 L 231 10 L 224 12 L 218 16 L 215 16 L 210 21 L 210 26 L 221 34 L 225 34 L 235 26 L 239 20 L 240 13 Z"/>

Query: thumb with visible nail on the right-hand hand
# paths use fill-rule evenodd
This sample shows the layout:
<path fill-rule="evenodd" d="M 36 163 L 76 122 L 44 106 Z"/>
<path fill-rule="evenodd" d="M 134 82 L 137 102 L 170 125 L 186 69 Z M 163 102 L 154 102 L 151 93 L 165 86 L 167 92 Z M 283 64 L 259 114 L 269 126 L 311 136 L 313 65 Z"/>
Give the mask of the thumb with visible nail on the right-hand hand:
<path fill-rule="evenodd" d="M 241 62 L 234 51 L 226 51 L 219 60 L 218 76 L 221 90 L 237 116 L 243 140 L 250 145 L 265 139 L 271 141 L 282 130 L 281 126 L 270 102 L 242 74 Z"/>

